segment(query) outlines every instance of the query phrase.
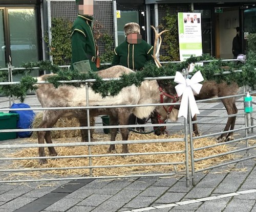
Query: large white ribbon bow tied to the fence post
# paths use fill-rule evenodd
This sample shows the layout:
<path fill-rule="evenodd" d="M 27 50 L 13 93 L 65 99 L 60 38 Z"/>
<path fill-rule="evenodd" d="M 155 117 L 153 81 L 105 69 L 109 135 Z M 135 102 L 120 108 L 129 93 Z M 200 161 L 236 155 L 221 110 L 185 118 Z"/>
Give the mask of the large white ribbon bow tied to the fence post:
<path fill-rule="evenodd" d="M 202 82 L 203 80 L 204 78 L 200 71 L 197 72 L 191 79 L 185 79 L 180 72 L 176 72 L 174 82 L 177 82 L 179 84 L 175 86 L 175 89 L 179 97 L 183 95 L 181 99 L 178 117 L 184 116 L 185 119 L 187 119 L 188 104 L 190 107 L 192 117 L 194 117 L 195 114 L 200 113 L 197 107 L 193 91 L 199 94 L 203 86 L 199 82 Z"/>

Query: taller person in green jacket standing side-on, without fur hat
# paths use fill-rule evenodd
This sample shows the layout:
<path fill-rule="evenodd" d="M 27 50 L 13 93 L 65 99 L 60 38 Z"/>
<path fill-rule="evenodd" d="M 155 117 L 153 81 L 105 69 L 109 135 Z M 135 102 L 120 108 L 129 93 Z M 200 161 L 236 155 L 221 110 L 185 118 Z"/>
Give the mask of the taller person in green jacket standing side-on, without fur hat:
<path fill-rule="evenodd" d="M 93 16 L 99 9 L 94 0 L 76 0 L 78 16 L 71 30 L 71 70 L 81 73 L 97 71 L 97 50 L 93 37 Z"/>

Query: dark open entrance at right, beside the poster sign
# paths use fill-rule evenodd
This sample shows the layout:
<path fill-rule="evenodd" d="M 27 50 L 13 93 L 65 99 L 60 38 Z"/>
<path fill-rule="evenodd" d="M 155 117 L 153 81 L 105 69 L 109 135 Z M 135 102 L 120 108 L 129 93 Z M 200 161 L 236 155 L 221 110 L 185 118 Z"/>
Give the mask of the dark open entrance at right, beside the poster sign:
<path fill-rule="evenodd" d="M 254 5 L 236 3 L 199 3 L 194 11 L 202 14 L 203 53 L 217 58 L 231 59 L 232 40 L 236 27 L 240 27 L 243 53 L 246 54 L 249 33 L 256 31 L 256 8 Z"/>

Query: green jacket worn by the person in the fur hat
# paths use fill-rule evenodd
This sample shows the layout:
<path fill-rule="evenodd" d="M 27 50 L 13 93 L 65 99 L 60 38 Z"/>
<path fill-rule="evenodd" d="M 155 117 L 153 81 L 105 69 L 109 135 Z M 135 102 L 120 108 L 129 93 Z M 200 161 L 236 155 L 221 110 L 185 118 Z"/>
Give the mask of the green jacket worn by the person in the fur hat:
<path fill-rule="evenodd" d="M 112 65 L 123 65 L 125 67 L 140 70 L 146 61 L 154 61 L 153 46 L 142 40 L 137 44 L 130 44 L 125 40 L 115 50 Z"/>

